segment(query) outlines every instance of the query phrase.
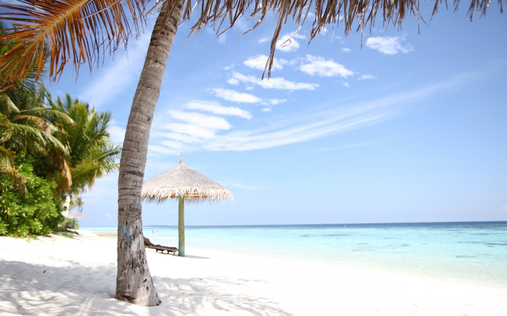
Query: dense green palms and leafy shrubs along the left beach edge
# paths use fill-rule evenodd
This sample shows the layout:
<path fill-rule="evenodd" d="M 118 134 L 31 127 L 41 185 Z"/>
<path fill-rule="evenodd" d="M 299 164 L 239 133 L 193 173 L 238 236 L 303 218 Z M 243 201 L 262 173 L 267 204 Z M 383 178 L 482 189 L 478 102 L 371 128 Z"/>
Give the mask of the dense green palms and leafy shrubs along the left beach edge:
<path fill-rule="evenodd" d="M 6 33 L 0 24 L 2 33 Z M 0 43 L 2 54 L 15 41 Z M 118 169 L 121 149 L 109 140 L 111 113 L 66 95 L 53 100 L 37 67 L 0 92 L 0 235 L 47 235 L 75 220 L 61 215 L 62 200 Z M 44 74 L 44 73 L 43 73 Z"/>

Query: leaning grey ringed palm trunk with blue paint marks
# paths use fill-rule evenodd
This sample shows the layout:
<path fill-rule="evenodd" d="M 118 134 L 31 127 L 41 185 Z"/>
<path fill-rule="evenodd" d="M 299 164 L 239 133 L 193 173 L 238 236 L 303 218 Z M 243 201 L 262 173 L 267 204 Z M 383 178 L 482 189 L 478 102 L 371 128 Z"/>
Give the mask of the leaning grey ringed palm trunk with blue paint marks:
<path fill-rule="evenodd" d="M 118 275 L 115 297 L 142 306 L 161 303 L 144 251 L 141 189 L 153 113 L 160 95 L 167 58 L 182 15 L 182 1 L 177 1 L 179 5 L 165 24 L 164 12 L 159 14 L 155 22 L 130 109 L 118 177 Z"/>

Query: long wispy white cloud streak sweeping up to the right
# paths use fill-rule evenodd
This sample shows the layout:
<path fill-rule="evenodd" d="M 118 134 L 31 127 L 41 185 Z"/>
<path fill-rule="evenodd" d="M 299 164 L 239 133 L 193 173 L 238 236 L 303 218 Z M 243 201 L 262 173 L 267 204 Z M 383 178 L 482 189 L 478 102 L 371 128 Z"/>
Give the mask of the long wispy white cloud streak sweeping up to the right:
<path fill-rule="evenodd" d="M 157 145 L 162 144 L 163 140 L 182 142 L 187 152 L 244 151 L 304 142 L 399 117 L 407 112 L 411 104 L 417 104 L 437 93 L 449 91 L 450 88 L 460 86 L 475 77 L 477 77 L 475 74 L 464 74 L 446 82 L 356 104 L 315 105 L 314 108 L 307 108 L 290 116 L 280 114 L 278 117 L 272 117 L 266 125 L 256 129 L 234 128 L 230 131 L 219 130 L 216 133 L 206 129 L 208 134 L 204 136 L 209 138 L 203 137 L 192 124 L 173 123 L 165 127 L 174 133 L 165 135 L 154 133 L 154 139 L 158 139 Z M 266 109 L 261 111 L 269 111 L 269 107 Z M 187 140 L 181 135 L 183 133 L 186 134 Z"/>

